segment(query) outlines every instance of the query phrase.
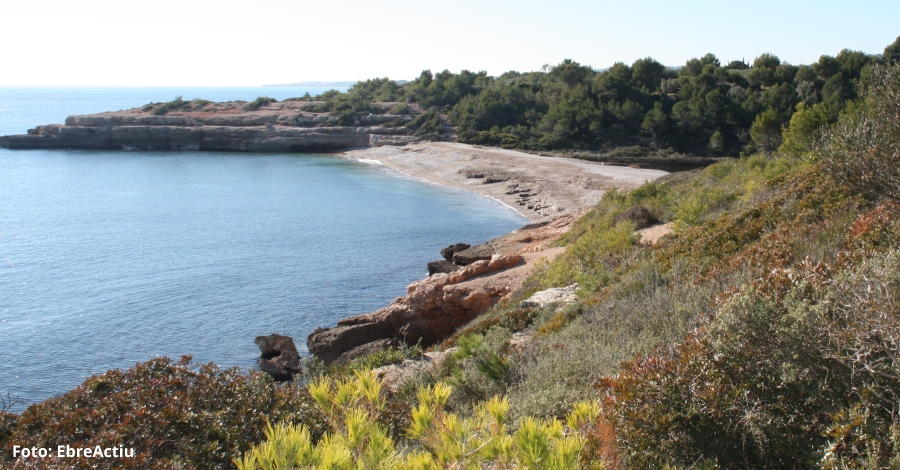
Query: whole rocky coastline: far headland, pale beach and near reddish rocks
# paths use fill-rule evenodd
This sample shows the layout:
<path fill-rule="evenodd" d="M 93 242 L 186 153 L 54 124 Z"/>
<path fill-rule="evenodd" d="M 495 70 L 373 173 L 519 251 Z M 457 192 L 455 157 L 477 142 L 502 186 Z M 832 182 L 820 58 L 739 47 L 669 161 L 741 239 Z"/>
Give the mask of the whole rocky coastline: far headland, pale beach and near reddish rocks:
<path fill-rule="evenodd" d="M 307 346 L 312 355 L 328 364 L 346 363 L 401 342 L 431 346 L 443 341 L 509 298 L 537 260 L 552 260 L 562 253 L 563 248 L 553 247 L 553 242 L 606 191 L 631 189 L 666 174 L 498 148 L 423 142 L 406 127 L 414 119 L 409 115 L 370 114 L 355 118 L 352 126 L 341 126 L 339 118 L 330 113 L 311 111 L 314 105 L 286 101 L 248 109 L 244 102 L 206 102 L 158 114 L 153 111 L 157 104 L 155 108 L 70 116 L 65 124 L 0 137 L 0 147 L 241 152 L 354 149 L 342 155 L 494 198 L 533 222 L 480 245 L 451 245 L 441 253 L 445 259 L 428 263 L 428 278 L 410 284 L 406 295 L 389 306 L 318 328 L 309 335 Z M 442 126 L 438 138 L 453 140 L 452 127 Z M 257 342 L 262 351 L 260 367 L 273 377 L 287 379 L 299 370 L 295 348 L 285 347 L 286 353 L 275 354 L 275 347 L 269 345 L 275 339 L 261 337 Z"/>

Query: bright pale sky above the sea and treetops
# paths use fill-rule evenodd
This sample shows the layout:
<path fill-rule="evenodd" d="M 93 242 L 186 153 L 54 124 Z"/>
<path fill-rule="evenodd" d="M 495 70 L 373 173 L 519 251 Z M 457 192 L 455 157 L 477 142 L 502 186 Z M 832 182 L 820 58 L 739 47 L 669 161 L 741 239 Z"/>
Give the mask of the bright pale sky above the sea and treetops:
<path fill-rule="evenodd" d="M 793 64 L 900 35 L 897 0 L 3 0 L 0 86 L 258 86 L 424 69 Z"/>

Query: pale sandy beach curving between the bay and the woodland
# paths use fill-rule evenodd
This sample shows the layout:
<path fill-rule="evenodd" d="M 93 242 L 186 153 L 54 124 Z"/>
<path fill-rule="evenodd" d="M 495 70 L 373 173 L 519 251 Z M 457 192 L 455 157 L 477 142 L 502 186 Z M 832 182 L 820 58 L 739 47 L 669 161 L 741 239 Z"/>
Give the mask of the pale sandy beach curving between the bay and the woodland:
<path fill-rule="evenodd" d="M 342 155 L 498 199 L 532 222 L 582 213 L 607 190 L 633 189 L 667 174 L 450 142 L 369 147 Z"/>

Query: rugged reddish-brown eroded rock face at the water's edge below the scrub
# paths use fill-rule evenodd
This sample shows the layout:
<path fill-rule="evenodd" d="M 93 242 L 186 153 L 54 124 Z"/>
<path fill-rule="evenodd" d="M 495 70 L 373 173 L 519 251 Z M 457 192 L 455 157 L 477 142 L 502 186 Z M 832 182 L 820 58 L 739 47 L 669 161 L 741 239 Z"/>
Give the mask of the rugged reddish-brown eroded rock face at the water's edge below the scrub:
<path fill-rule="evenodd" d="M 476 261 L 451 274 L 435 274 L 407 287 L 407 295 L 365 315 L 343 319 L 333 328 L 319 328 L 307 339 L 310 353 L 326 364 L 344 362 L 371 348 L 361 346 L 396 340 L 430 346 L 450 336 L 503 296 L 506 286 L 472 287 L 464 281 L 523 263 L 518 254 Z M 376 345 L 378 346 L 378 345 Z M 383 346 L 374 350 L 383 349 Z"/>

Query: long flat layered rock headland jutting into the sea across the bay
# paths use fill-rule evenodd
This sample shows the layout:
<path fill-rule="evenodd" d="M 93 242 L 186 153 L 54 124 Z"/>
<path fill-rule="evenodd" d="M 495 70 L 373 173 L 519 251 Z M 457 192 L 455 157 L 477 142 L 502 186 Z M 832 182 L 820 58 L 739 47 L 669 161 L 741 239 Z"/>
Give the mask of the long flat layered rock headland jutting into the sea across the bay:
<path fill-rule="evenodd" d="M 153 114 L 151 108 L 135 108 L 69 116 L 65 124 L 43 125 L 24 135 L 0 137 L 0 147 L 310 152 L 406 145 L 420 140 L 406 127 L 414 116 L 373 114 L 341 126 L 337 117 L 307 108 L 308 103 L 283 102 L 249 110 L 245 103 L 234 102 L 209 103 L 164 115 Z M 448 126 L 442 132 L 451 138 L 452 128 Z"/>

